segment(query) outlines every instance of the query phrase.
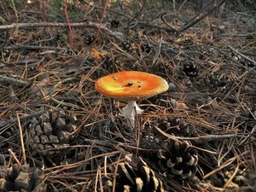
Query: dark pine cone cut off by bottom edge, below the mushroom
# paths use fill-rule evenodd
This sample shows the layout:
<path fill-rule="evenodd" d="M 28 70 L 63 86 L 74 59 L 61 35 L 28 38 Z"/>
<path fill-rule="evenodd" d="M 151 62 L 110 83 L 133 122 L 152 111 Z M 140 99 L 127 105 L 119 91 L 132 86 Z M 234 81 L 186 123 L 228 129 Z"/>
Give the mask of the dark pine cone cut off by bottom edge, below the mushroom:
<path fill-rule="evenodd" d="M 165 192 L 160 178 L 141 159 L 134 169 L 128 163 L 119 163 L 119 176 L 116 180 L 115 191 L 119 192 Z M 112 191 L 113 183 L 108 180 L 108 189 Z"/>

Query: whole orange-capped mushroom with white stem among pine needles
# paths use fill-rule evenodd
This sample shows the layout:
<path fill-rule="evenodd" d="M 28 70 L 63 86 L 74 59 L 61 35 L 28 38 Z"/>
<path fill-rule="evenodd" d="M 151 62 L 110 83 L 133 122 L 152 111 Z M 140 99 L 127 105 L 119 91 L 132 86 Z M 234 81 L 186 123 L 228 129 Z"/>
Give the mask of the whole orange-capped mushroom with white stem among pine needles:
<path fill-rule="evenodd" d="M 98 79 L 95 87 L 103 96 L 128 102 L 121 115 L 134 127 L 136 114 L 143 113 L 136 102 L 168 90 L 169 85 L 165 79 L 151 73 L 125 71 Z"/>

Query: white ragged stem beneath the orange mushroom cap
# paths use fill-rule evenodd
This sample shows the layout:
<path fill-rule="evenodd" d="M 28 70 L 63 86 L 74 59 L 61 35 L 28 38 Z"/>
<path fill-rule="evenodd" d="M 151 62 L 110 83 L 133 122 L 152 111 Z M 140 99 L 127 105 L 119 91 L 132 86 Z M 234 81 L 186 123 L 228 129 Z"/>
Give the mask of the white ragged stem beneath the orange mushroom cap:
<path fill-rule="evenodd" d="M 141 114 L 141 113 L 143 113 L 143 109 L 139 108 L 135 101 L 130 101 L 128 102 L 128 105 L 125 106 L 125 108 L 122 108 L 121 116 L 128 119 L 128 124 L 134 127 L 135 117 L 137 114 Z"/>

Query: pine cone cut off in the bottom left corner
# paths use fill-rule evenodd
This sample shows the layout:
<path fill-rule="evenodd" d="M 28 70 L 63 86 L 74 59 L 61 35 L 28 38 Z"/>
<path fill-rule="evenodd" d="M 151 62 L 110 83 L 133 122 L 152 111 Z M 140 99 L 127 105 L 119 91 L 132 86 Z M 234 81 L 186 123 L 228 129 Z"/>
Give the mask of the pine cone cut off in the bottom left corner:
<path fill-rule="evenodd" d="M 5 177 L 0 179 L 0 191 L 46 191 L 46 185 L 42 183 L 40 175 L 42 171 L 36 167 L 20 167 L 15 164 L 6 168 Z"/>

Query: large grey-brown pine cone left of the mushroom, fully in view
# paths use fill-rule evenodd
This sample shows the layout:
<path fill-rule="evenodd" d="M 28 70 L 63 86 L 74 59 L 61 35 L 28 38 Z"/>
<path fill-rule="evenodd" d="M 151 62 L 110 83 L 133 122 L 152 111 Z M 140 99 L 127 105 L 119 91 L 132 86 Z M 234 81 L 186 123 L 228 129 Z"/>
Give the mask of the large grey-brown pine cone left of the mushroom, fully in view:
<path fill-rule="evenodd" d="M 39 154 L 50 155 L 59 152 L 63 147 L 68 147 L 69 140 L 73 137 L 71 132 L 76 129 L 72 123 L 74 116 L 68 116 L 60 110 L 56 117 L 53 113 L 44 113 L 38 119 L 33 118 L 29 124 L 29 144 Z"/>

